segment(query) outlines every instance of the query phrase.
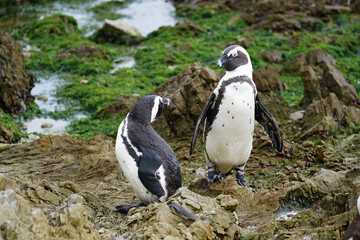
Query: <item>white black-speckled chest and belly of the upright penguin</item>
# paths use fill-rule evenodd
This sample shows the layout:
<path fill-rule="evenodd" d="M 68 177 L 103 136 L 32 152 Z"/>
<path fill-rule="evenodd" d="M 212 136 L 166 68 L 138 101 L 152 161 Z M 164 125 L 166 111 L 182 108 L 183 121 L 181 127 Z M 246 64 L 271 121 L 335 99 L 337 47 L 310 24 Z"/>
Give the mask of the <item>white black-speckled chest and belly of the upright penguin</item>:
<path fill-rule="evenodd" d="M 255 96 L 247 82 L 225 87 L 218 113 L 207 133 L 208 161 L 220 172 L 244 165 L 252 149 L 255 121 Z"/>

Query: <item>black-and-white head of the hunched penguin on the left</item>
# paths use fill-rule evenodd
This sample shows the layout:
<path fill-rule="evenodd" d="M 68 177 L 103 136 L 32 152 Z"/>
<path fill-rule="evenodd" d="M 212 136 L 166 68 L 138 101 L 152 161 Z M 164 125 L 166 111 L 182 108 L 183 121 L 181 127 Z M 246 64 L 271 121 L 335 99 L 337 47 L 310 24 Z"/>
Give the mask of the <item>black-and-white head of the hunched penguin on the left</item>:
<path fill-rule="evenodd" d="M 170 98 L 149 95 L 141 98 L 129 112 L 131 118 L 152 122 L 160 117 L 165 107 L 171 104 Z"/>

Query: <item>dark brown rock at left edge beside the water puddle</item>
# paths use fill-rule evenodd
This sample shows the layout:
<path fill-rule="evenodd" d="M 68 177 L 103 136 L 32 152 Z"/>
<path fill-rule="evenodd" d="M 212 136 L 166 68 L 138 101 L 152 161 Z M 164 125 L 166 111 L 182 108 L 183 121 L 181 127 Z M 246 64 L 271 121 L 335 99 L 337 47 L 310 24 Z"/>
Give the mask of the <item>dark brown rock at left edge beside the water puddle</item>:
<path fill-rule="evenodd" d="M 22 111 L 34 101 L 30 91 L 36 78 L 25 70 L 20 44 L 1 30 L 0 56 L 0 107 L 6 113 Z"/>

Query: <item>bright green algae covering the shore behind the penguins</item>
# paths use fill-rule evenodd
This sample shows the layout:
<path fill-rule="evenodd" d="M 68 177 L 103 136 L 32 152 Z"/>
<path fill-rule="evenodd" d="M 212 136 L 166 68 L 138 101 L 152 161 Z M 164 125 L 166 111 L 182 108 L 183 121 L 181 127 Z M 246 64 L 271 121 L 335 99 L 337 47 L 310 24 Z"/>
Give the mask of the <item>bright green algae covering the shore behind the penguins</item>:
<path fill-rule="evenodd" d="M 97 7 L 100 18 L 102 12 L 112 4 L 118 3 L 109 2 Z M 90 119 L 77 121 L 69 128 L 71 133 L 80 135 L 91 132 L 90 125 L 102 124 L 99 120 L 103 116 L 99 113 L 118 96 L 147 95 L 194 62 L 214 68 L 216 59 L 228 44 L 241 45 L 245 42 L 254 69 L 267 64 L 260 56 L 265 50 L 280 51 L 283 60 L 279 64 L 282 64 L 300 53 L 324 49 L 335 57 L 336 67 L 360 93 L 360 45 L 356 35 L 360 23 L 356 15 L 334 16 L 332 21 L 318 26 L 321 31 L 302 30 L 279 35 L 266 30 L 249 30 L 237 14 L 235 11 L 213 11 L 209 8 L 192 11 L 178 8 L 177 15 L 184 19 L 183 23 L 150 33 L 141 46 L 135 48 L 95 44 L 82 35 L 72 17 L 61 14 L 35 21 L 18 30 L 14 36 L 29 39 L 31 44 L 41 49 L 32 52 L 30 60 L 26 62 L 28 69 L 72 74 L 68 84 L 57 95 L 69 101 L 78 101 L 80 110 L 90 113 Z M 64 52 L 71 52 L 83 45 L 99 48 L 107 57 L 95 55 L 84 58 L 76 54 L 62 57 Z M 134 56 L 134 69 L 119 69 L 110 74 L 113 60 L 126 56 Z M 220 68 L 214 70 L 218 73 L 222 71 Z M 80 84 L 82 79 L 88 82 Z M 301 78 L 282 70 L 279 79 L 289 87 L 279 94 L 291 106 L 298 106 L 304 91 Z M 66 113 L 58 112 L 54 115 L 62 118 Z M 86 131 L 81 130 L 82 124 Z M 108 124 L 105 123 L 99 129 L 107 129 Z"/>

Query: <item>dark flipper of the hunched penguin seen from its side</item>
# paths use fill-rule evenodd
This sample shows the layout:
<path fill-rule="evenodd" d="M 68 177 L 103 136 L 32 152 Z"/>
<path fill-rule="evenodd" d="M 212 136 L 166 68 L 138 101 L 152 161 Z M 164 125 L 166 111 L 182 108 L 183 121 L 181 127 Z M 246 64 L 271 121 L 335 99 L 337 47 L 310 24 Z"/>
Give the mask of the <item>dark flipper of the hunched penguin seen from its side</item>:
<path fill-rule="evenodd" d="M 165 191 L 156 178 L 156 171 L 160 168 L 162 161 L 154 150 L 140 145 L 142 159 L 139 164 L 139 178 L 145 188 L 158 197 L 164 196 Z"/>

